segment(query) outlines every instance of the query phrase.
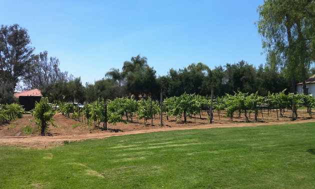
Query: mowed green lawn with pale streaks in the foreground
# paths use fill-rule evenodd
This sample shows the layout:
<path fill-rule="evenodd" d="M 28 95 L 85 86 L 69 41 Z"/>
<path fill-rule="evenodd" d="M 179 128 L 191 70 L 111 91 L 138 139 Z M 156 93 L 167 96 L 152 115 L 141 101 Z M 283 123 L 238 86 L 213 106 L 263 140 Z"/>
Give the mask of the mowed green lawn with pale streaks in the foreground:
<path fill-rule="evenodd" d="M 0 146 L 0 188 L 314 188 L 315 123 Z"/>

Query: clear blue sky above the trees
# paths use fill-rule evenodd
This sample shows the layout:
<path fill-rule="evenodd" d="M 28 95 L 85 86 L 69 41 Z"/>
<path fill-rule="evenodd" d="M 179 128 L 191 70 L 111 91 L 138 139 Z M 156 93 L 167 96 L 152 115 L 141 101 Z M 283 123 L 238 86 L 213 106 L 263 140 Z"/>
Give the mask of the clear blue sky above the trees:
<path fill-rule="evenodd" d="M 131 56 L 156 75 L 202 62 L 265 63 L 254 22 L 263 0 L 1 0 L 0 24 L 28 30 L 34 53 L 94 82 Z"/>

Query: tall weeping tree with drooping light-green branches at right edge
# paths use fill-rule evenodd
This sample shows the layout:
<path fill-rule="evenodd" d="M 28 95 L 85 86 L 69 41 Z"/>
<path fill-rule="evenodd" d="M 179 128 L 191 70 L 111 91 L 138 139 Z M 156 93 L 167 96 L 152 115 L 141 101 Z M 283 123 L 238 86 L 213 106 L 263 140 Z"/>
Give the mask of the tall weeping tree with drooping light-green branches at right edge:
<path fill-rule="evenodd" d="M 256 25 L 267 62 L 281 65 L 292 80 L 292 92 L 300 80 L 306 93 L 307 72 L 315 59 L 315 1 L 265 0 L 257 11 Z"/>

